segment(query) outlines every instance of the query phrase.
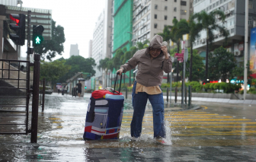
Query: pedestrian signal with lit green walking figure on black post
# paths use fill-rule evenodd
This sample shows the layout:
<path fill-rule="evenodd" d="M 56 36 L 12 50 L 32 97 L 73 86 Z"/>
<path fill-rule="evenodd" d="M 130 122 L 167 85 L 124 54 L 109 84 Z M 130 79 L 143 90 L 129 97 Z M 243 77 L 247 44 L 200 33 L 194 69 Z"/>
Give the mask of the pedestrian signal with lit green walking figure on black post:
<path fill-rule="evenodd" d="M 43 30 L 42 25 L 33 25 L 33 46 L 39 46 L 43 42 Z"/>

